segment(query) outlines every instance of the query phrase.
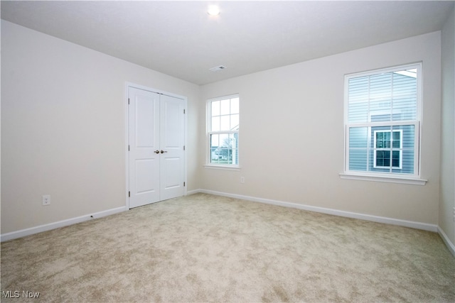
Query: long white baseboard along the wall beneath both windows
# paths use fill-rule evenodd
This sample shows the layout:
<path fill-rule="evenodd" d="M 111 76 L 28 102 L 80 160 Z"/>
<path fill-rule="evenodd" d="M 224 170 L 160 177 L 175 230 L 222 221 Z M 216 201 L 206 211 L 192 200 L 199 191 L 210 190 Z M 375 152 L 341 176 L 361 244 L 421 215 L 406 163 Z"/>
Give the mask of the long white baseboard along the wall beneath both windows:
<path fill-rule="evenodd" d="M 426 223 L 420 223 L 420 222 L 414 222 L 414 221 L 392 219 L 392 218 L 386 218 L 383 216 L 372 216 L 369 214 L 358 214 L 358 213 L 354 213 L 354 212 L 350 212 L 350 211 L 340 211 L 337 209 L 327 209 L 327 208 L 318 207 L 318 206 L 310 206 L 310 205 L 296 204 L 296 203 L 291 203 L 291 202 L 277 201 L 277 200 L 272 200 L 272 199 L 243 196 L 241 194 L 228 194 L 225 192 L 215 192 L 213 190 L 207 190 L 207 189 L 198 189 L 197 191 L 193 190 L 192 192 L 194 192 L 195 194 L 196 194 L 196 192 L 203 192 L 205 194 L 216 194 L 218 196 L 231 197 L 231 198 L 242 199 L 242 200 L 247 200 L 247 201 L 252 201 L 252 202 L 261 202 L 261 203 L 265 203 L 265 204 L 273 204 L 273 205 L 278 205 L 278 206 L 291 207 L 294 209 L 303 209 L 306 211 L 315 211 L 315 212 L 319 212 L 322 214 L 331 214 L 333 216 L 344 216 L 346 218 L 353 218 L 353 219 L 373 221 L 373 222 L 378 222 L 378 223 L 383 223 L 383 224 L 391 224 L 391 225 L 405 226 L 405 227 L 410 227 L 410 228 L 417 228 L 417 229 L 422 229 L 424 231 L 434 231 L 434 232 L 438 231 L 438 226 L 434 225 L 434 224 L 426 224 Z"/>

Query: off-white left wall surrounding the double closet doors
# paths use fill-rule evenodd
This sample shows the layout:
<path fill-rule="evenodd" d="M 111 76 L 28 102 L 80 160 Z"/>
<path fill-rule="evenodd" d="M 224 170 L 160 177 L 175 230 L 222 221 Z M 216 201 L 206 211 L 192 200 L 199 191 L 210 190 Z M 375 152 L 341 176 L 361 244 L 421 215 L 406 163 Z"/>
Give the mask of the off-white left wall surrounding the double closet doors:
<path fill-rule="evenodd" d="M 126 82 L 188 97 L 196 158 L 196 84 L 3 20 L 1 46 L 2 234 L 125 206 Z"/>

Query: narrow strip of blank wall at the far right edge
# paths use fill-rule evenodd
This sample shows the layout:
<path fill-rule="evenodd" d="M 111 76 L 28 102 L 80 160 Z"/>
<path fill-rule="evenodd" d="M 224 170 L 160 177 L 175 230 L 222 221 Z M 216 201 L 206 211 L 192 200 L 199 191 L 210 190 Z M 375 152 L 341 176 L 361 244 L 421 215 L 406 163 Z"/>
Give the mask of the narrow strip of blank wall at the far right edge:
<path fill-rule="evenodd" d="M 455 16 L 442 30 L 441 199 L 439 227 L 455 245 Z M 455 247 L 455 246 L 454 246 Z"/>

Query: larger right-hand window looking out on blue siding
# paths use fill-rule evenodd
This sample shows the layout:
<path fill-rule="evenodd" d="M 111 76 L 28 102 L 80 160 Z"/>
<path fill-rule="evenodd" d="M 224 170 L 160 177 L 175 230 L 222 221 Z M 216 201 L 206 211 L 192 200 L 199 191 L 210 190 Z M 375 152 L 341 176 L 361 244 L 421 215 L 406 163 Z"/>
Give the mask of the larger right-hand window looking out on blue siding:
<path fill-rule="evenodd" d="M 345 78 L 345 175 L 419 177 L 422 65 Z"/>

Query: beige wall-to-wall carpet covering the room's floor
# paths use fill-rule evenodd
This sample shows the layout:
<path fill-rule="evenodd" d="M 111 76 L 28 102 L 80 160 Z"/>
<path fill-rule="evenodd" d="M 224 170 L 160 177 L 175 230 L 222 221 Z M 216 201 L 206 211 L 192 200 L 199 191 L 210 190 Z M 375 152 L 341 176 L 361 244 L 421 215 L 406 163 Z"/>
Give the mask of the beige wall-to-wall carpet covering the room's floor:
<path fill-rule="evenodd" d="M 455 258 L 437 233 L 194 194 L 1 243 L 1 290 L 1 302 L 455 302 Z"/>

